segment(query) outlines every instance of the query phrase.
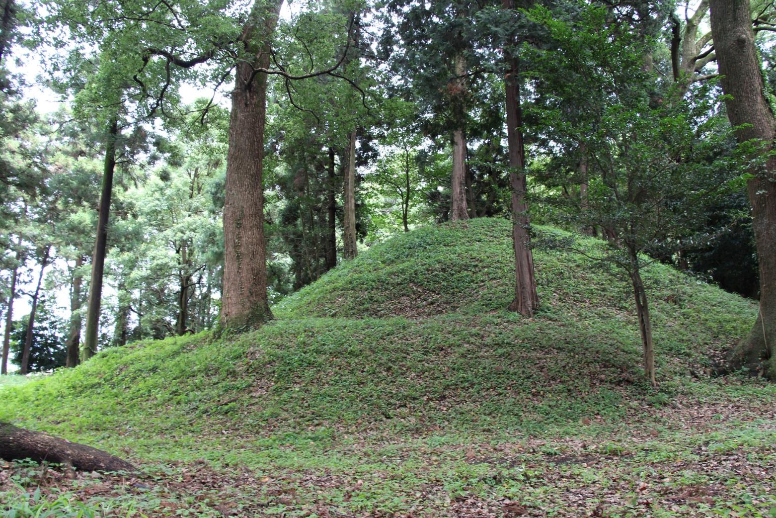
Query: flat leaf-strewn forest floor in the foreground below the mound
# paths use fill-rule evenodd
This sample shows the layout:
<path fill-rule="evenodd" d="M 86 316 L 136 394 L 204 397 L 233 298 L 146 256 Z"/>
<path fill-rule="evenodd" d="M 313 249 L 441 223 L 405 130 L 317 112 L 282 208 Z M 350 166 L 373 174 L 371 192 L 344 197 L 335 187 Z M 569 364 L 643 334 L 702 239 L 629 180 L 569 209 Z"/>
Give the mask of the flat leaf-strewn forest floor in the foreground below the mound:
<path fill-rule="evenodd" d="M 748 383 L 734 381 L 738 395 L 726 399 L 639 405 L 618 422 L 584 417 L 573 435 L 372 429 L 274 446 L 234 436 L 219 442 L 258 454 L 236 465 L 143 462 L 131 476 L 5 463 L 0 495 L 29 509 L 16 516 L 772 518 L 776 395 L 753 398 Z"/>

